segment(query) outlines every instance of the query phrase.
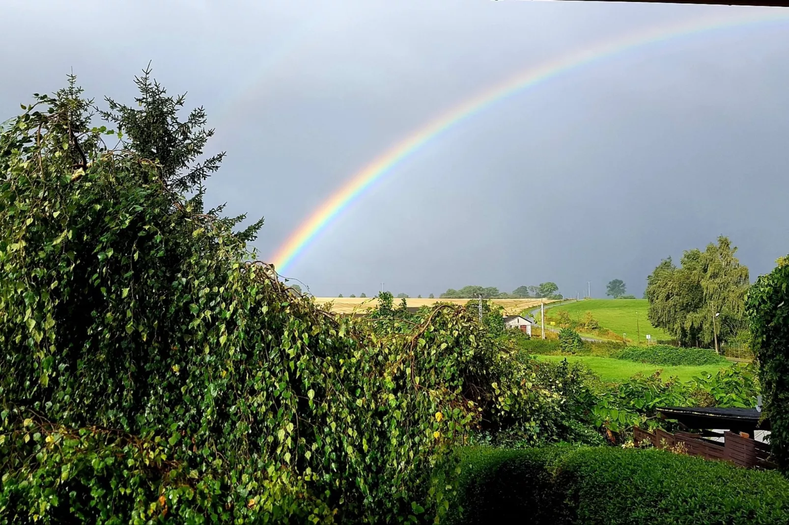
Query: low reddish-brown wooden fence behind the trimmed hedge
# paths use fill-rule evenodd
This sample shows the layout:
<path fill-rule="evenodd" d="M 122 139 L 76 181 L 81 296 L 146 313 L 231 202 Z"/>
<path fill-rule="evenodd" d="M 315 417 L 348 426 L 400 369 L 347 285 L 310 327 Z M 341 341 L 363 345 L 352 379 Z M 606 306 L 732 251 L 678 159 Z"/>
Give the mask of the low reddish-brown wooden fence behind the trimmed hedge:
<path fill-rule="evenodd" d="M 740 467 L 774 468 L 769 460 L 769 445 L 750 437 L 724 432 L 724 442 L 705 439 L 701 434 L 677 432 L 670 434 L 663 429 L 654 433 L 635 427 L 633 441 L 638 446 L 642 441 L 649 441 L 656 449 L 678 449 L 682 446 L 689 456 L 701 456 L 706 460 L 724 460 Z"/>

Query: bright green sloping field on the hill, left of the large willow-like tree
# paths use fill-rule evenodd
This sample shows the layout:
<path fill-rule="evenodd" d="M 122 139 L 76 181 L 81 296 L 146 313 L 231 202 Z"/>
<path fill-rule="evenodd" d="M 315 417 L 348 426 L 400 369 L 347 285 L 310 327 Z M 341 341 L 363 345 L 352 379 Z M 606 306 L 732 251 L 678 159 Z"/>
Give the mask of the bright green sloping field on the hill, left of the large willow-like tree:
<path fill-rule="evenodd" d="M 645 343 L 647 333 L 652 336 L 652 341 L 671 339 L 671 336 L 664 330 L 649 324 L 649 319 L 646 316 L 648 309 L 649 302 L 645 299 L 589 299 L 550 307 L 545 311 L 545 315 L 547 318 L 555 320 L 556 312 L 563 310 L 570 313 L 570 318 L 578 320 L 583 317 L 586 311 L 591 311 L 597 322 L 600 322 L 601 327 L 618 333 L 620 337 L 622 333 L 626 333 L 627 339 L 630 341 L 636 342 L 639 330 L 641 344 Z M 586 334 L 581 333 L 581 335 Z M 594 334 L 588 335 L 589 337 L 599 337 Z"/>

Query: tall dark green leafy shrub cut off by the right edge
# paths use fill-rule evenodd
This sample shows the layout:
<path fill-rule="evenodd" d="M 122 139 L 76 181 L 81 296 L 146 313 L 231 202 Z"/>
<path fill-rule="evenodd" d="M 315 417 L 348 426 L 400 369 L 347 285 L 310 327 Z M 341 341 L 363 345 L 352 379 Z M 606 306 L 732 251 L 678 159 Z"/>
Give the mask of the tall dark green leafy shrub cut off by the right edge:
<path fill-rule="evenodd" d="M 789 255 L 751 286 L 746 315 L 753 334 L 753 354 L 770 419 L 770 446 L 779 467 L 789 471 Z"/>

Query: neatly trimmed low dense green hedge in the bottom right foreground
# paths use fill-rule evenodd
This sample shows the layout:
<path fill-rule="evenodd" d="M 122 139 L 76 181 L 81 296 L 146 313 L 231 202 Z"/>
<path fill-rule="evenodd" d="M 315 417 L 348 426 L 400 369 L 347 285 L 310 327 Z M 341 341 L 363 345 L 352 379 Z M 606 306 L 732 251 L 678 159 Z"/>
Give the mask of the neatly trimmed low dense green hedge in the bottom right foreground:
<path fill-rule="evenodd" d="M 454 523 L 789 523 L 789 482 L 662 450 L 473 449 Z"/>

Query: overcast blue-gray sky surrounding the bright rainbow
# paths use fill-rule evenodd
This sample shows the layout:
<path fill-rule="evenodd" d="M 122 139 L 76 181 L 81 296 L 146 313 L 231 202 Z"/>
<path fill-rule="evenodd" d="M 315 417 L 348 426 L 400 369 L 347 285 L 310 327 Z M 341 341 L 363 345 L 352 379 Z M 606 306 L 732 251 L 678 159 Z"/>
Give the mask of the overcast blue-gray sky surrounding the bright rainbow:
<path fill-rule="evenodd" d="M 592 2 L 33 2 L 0 7 L 0 121 L 73 68 L 130 101 L 152 61 L 228 153 L 209 203 L 264 216 L 269 258 L 414 129 L 574 50 L 705 17 L 787 9 Z M 752 280 L 789 251 L 789 21 L 596 61 L 490 106 L 406 159 L 287 269 L 318 296 L 438 295 L 614 278 L 719 234 Z"/>

